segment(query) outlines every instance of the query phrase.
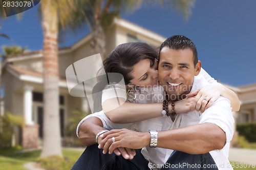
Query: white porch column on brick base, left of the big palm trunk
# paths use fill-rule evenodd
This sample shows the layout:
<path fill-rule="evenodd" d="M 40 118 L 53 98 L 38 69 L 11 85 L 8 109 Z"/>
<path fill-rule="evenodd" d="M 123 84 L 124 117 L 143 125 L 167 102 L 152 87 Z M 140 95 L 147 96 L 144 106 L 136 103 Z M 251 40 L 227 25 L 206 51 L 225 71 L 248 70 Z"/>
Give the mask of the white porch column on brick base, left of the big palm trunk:
<path fill-rule="evenodd" d="M 24 87 L 24 99 L 23 99 L 23 114 L 25 118 L 25 124 L 34 124 L 32 121 L 32 90 L 31 86 Z"/>

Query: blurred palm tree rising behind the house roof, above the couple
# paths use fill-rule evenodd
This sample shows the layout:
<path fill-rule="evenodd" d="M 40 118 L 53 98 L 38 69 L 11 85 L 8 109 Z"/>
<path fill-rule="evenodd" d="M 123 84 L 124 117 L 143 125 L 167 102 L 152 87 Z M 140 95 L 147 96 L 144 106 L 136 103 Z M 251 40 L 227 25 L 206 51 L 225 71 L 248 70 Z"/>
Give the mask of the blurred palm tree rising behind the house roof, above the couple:
<path fill-rule="evenodd" d="M 92 31 L 91 47 L 95 54 L 104 56 L 105 30 L 112 24 L 115 17 L 120 16 L 122 10 L 132 12 L 142 5 L 148 7 L 161 5 L 162 7 L 176 8 L 184 18 L 191 13 L 191 7 L 196 0 L 76 0 L 76 14 L 73 15 L 75 25 L 70 27 L 76 30 L 82 24 L 86 24 Z"/>

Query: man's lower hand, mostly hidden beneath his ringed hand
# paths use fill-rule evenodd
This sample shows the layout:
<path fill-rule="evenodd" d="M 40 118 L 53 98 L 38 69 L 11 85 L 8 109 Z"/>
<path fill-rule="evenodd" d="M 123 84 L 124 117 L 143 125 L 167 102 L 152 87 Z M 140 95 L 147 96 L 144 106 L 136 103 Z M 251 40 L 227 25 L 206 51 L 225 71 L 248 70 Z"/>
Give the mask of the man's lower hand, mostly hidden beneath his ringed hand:
<path fill-rule="evenodd" d="M 105 137 L 100 135 L 98 137 L 98 143 L 100 143 Z M 113 151 L 116 155 L 122 155 L 124 159 L 133 159 L 136 155 L 136 152 L 134 149 L 127 148 L 127 147 L 118 147 L 115 148 Z"/>

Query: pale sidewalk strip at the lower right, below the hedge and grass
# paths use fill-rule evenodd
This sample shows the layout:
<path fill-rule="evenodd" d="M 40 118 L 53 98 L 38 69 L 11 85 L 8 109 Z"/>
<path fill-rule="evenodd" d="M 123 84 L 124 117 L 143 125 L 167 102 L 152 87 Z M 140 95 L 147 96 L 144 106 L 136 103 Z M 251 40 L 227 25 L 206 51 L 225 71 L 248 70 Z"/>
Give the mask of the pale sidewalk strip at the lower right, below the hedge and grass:
<path fill-rule="evenodd" d="M 256 164 L 256 150 L 249 150 L 244 148 L 230 148 L 228 160 L 231 162 Z"/>

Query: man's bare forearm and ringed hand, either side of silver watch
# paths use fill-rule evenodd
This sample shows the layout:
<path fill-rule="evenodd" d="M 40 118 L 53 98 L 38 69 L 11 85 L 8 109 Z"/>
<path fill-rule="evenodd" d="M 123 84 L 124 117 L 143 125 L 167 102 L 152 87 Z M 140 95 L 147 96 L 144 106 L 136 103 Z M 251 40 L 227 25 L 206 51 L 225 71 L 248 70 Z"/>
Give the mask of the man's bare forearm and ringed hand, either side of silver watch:
<path fill-rule="evenodd" d="M 110 153 L 116 147 L 143 148 L 150 145 L 150 133 L 139 133 L 126 129 L 111 130 L 103 135 L 100 148 Z M 115 142 L 112 141 L 115 137 Z M 186 126 L 177 130 L 158 132 L 157 147 L 169 148 L 188 154 L 205 154 L 220 150 L 226 143 L 226 135 L 219 126 L 203 123 Z"/>

